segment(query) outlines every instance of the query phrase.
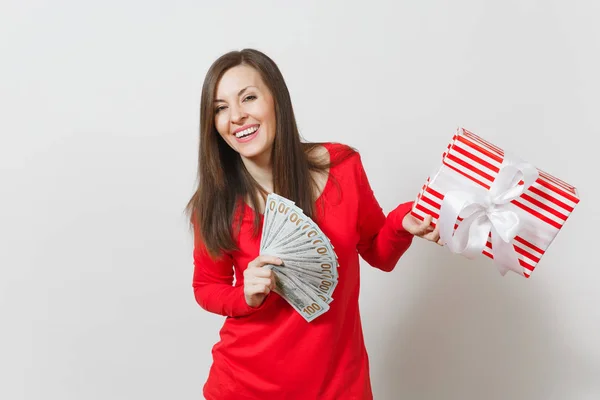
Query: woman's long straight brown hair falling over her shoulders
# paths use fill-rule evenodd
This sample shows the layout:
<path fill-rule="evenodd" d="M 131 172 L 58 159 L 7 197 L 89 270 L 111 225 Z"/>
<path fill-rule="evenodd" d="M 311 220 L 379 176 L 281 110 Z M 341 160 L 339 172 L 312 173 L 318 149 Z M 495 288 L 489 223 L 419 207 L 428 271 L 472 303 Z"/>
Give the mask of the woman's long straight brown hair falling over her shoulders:
<path fill-rule="evenodd" d="M 259 196 L 264 200 L 267 195 L 246 170 L 239 154 L 229 147 L 215 127 L 217 85 L 227 70 L 238 65 L 258 71 L 273 96 L 276 118 L 271 153 L 274 192 L 294 201 L 307 216 L 315 218 L 317 184 L 311 171 L 324 173 L 332 166 L 332 162 L 311 156 L 320 143 L 301 141 L 287 85 L 273 60 L 254 49 L 232 51 L 219 57 L 208 70 L 202 86 L 198 186 L 186 208 L 195 232 L 213 256 L 237 250 L 233 229 L 240 202 L 247 199 L 252 208 L 259 210 Z M 255 235 L 259 232 L 260 218 L 259 213 L 255 213 Z"/>

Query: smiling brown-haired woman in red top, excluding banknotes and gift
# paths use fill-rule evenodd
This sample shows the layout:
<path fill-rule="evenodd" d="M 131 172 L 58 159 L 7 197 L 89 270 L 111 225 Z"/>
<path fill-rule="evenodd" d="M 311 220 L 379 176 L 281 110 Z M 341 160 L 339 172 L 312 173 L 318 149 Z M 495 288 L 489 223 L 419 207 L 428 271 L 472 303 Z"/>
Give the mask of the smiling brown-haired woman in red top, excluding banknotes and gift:
<path fill-rule="evenodd" d="M 387 217 L 357 152 L 300 140 L 276 64 L 256 50 L 223 55 L 202 88 L 193 288 L 204 309 L 227 316 L 214 346 L 206 399 L 371 399 L 358 308 L 360 254 L 391 271 L 414 235 L 437 242 L 430 220 Z M 343 129 L 343 127 L 340 127 Z M 258 256 L 268 193 L 296 203 L 335 247 L 339 282 L 330 310 L 307 323 L 272 293 Z M 235 278 L 235 281 L 234 281 Z"/>

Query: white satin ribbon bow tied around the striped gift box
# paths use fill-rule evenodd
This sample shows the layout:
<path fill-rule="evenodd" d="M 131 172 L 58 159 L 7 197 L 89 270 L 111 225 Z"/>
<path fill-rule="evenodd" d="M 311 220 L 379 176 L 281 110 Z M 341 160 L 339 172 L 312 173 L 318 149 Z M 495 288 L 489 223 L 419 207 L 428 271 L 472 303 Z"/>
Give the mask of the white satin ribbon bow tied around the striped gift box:
<path fill-rule="evenodd" d="M 442 241 L 453 253 L 473 259 L 481 254 L 491 232 L 492 254 L 500 274 L 504 276 L 512 270 L 523 275 L 512 244 L 522 221 L 510 202 L 537 178 L 538 171 L 533 165 L 505 153 L 490 190 L 469 185 L 445 194 L 438 220 Z M 519 185 L 521 180 L 523 185 Z M 459 216 L 463 220 L 454 231 Z"/>

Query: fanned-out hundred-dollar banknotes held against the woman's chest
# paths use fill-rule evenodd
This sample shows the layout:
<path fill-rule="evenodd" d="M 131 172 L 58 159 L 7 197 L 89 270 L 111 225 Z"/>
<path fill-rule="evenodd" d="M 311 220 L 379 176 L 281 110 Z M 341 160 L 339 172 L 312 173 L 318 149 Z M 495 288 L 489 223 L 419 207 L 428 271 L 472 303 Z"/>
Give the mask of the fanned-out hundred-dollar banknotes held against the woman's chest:
<path fill-rule="evenodd" d="M 293 201 L 276 194 L 267 197 L 260 254 L 283 261 L 264 268 L 274 272 L 274 292 L 306 321 L 329 310 L 338 283 L 337 256 L 327 236 Z"/>

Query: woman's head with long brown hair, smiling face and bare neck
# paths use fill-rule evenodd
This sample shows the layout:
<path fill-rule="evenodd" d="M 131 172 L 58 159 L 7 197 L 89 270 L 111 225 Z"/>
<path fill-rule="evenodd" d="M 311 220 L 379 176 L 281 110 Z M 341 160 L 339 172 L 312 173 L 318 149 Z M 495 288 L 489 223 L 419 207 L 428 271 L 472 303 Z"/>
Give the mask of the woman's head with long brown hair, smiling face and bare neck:
<path fill-rule="evenodd" d="M 188 210 L 211 254 L 237 248 L 232 222 L 240 201 L 260 212 L 275 192 L 313 216 L 331 163 L 321 144 L 300 141 L 287 86 L 270 58 L 247 49 L 217 59 L 202 87 L 200 125 L 199 185 Z M 347 149 L 340 161 L 350 155 Z"/>

